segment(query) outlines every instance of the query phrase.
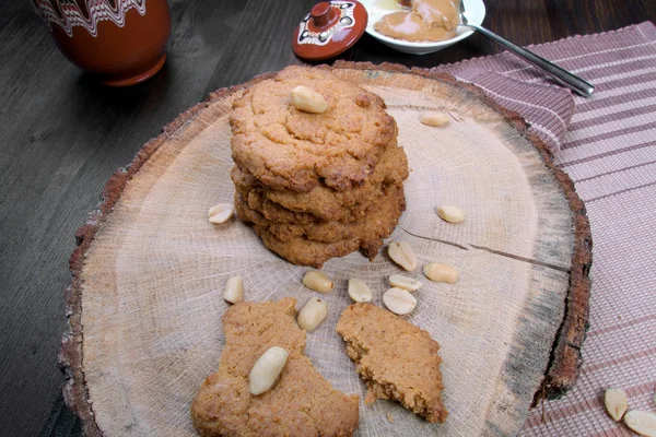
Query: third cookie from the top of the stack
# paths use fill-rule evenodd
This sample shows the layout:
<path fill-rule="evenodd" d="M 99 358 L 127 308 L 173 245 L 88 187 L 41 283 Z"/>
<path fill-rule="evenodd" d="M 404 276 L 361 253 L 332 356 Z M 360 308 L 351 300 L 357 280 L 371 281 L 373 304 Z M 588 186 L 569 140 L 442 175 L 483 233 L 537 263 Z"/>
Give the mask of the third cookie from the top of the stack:
<path fill-rule="evenodd" d="M 272 223 L 260 212 L 251 209 L 243 198 L 235 199 L 235 210 L 243 222 L 266 229 L 283 243 L 306 237 L 319 243 L 359 238 L 363 244 L 368 244 L 391 235 L 405 209 L 406 198 L 401 185 L 385 187 L 380 205 L 367 211 L 364 220 L 351 223 L 324 220 L 312 223 Z"/>

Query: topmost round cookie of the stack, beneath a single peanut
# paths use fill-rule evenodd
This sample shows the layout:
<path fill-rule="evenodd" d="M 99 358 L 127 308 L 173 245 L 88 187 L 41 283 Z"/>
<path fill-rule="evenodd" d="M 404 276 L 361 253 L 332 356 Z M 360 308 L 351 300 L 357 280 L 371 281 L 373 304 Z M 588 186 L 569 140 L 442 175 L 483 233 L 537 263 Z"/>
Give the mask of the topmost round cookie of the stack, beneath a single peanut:
<path fill-rule="evenodd" d="M 296 109 L 290 95 L 298 85 L 321 94 L 328 109 Z M 339 191 L 362 182 L 397 135 L 380 97 L 328 69 L 297 66 L 246 90 L 230 125 L 235 163 L 270 188 L 296 192 L 319 181 Z"/>

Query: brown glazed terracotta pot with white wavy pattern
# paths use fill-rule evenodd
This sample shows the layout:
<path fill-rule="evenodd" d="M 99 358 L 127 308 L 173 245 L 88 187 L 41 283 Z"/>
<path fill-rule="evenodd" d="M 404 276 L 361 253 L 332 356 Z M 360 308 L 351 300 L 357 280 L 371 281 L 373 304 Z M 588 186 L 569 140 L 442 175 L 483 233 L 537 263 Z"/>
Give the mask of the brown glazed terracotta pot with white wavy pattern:
<path fill-rule="evenodd" d="M 61 52 L 110 86 L 128 86 L 164 66 L 166 0 L 33 0 Z"/>

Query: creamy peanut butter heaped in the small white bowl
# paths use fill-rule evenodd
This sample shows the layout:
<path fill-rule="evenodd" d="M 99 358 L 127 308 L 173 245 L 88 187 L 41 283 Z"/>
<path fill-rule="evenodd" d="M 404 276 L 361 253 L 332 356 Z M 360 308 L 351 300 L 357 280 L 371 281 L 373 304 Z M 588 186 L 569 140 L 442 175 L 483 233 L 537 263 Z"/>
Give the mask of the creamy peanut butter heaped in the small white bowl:
<path fill-rule="evenodd" d="M 403 1 L 403 5 L 407 3 Z M 409 10 L 384 15 L 374 29 L 407 42 L 443 42 L 457 36 L 459 0 L 412 0 L 410 4 Z"/>

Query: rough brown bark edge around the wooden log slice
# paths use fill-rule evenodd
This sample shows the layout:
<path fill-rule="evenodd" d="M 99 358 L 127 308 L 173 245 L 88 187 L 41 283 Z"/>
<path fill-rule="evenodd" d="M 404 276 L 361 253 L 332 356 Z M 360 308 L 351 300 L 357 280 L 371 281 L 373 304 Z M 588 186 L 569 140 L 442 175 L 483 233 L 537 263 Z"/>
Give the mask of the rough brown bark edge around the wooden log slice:
<path fill-rule="evenodd" d="M 589 271 L 591 268 L 593 239 L 585 205 L 574 189 L 574 182 L 563 170 L 555 167 L 546 144 L 537 135 L 528 132 L 527 122 L 517 113 L 496 104 L 478 86 L 460 82 L 450 74 L 432 72 L 419 68 L 408 69 L 407 67 L 394 63 L 373 64 L 371 62 L 351 61 L 337 61 L 332 67 L 320 66 L 320 68 L 411 73 L 465 88 L 502 114 L 506 121 L 517 129 L 540 152 L 544 164 L 554 174 L 567 199 L 573 215 L 575 239 L 564 318 L 551 347 L 544 378 L 534 395 L 532 406 L 544 399 L 558 398 L 565 393 L 574 386 L 578 377 L 582 364 L 581 347 L 583 346 L 588 328 Z M 117 169 L 110 176 L 101 194 L 101 202 L 91 212 L 84 224 L 75 232 L 77 247 L 69 260 L 72 277 L 66 291 L 68 327 L 61 339 L 57 361 L 66 378 L 62 388 L 65 402 L 80 417 L 83 432 L 86 436 L 95 437 L 103 435 L 103 432 L 95 422 L 93 403 L 89 399 L 83 370 L 82 342 L 84 332 L 81 320 L 83 283 L 81 273 L 86 251 L 91 247 L 97 231 L 119 201 L 127 182 L 141 169 L 142 165 L 159 150 L 169 135 L 192 120 L 197 114 L 212 102 L 246 88 L 254 83 L 272 78 L 274 74 L 274 72 L 263 73 L 255 76 L 249 82 L 212 92 L 204 102 L 185 110 L 174 121 L 166 125 L 160 135 L 151 139 L 141 147 L 128 166 Z"/>

